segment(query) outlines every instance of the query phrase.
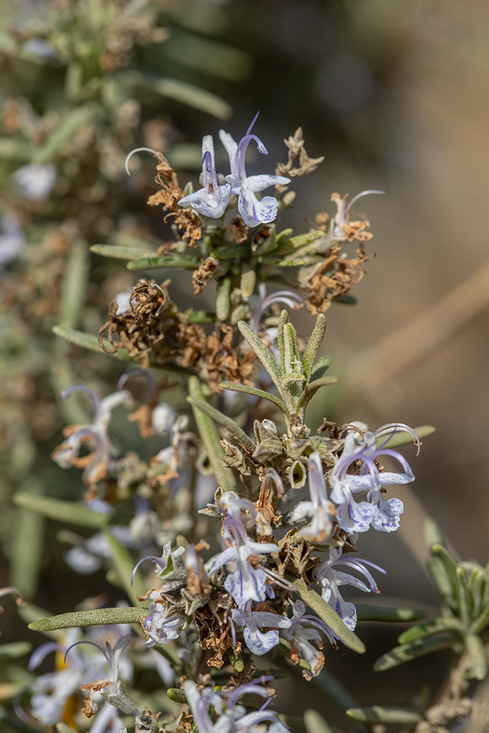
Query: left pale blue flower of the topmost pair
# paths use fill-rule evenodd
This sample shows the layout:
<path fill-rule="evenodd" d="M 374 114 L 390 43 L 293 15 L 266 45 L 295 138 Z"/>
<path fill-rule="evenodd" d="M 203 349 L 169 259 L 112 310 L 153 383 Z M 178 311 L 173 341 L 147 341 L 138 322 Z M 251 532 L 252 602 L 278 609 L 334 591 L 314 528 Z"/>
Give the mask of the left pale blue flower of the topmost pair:
<path fill-rule="evenodd" d="M 231 186 L 229 183 L 224 185 L 218 183 L 212 135 L 205 135 L 202 138 L 202 179 L 203 188 L 199 188 L 194 194 L 184 196 L 178 205 L 191 205 L 202 216 L 221 218 L 229 202 Z"/>

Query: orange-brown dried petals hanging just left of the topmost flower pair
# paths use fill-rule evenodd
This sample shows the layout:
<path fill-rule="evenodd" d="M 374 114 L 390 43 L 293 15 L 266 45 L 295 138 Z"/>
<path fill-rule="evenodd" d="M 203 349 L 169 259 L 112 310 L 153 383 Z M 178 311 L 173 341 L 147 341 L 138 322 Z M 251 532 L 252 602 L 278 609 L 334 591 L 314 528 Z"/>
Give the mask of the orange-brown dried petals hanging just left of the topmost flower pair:
<path fill-rule="evenodd" d="M 178 229 L 183 231 L 182 239 L 187 240 L 191 247 L 196 247 L 202 237 L 202 231 L 199 224 L 194 218 L 191 209 L 183 209 L 178 205 L 180 199 L 183 199 L 183 190 L 178 183 L 177 174 L 170 166 L 164 155 L 158 153 L 159 163 L 156 166 L 158 175 L 155 178 L 156 183 L 161 185 L 161 190 L 152 194 L 147 200 L 150 206 L 163 206 L 163 209 L 169 213 L 165 216 L 165 221 L 169 216 L 174 218 Z"/>

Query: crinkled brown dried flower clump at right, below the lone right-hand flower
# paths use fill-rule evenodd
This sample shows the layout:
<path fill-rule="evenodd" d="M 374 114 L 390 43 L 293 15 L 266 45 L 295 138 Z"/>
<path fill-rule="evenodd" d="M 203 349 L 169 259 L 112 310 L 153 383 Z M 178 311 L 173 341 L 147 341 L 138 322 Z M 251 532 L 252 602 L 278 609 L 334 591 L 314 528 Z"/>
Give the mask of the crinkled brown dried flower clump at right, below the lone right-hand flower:
<path fill-rule="evenodd" d="M 329 254 L 309 278 L 309 296 L 306 299 L 306 309 L 317 315 L 325 313 L 331 302 L 342 295 L 347 295 L 350 288 L 363 278 L 365 270 L 361 267 L 365 262 L 373 259 L 375 254 L 365 254 L 359 248 L 356 257 L 342 257 L 341 244 L 331 247 Z"/>

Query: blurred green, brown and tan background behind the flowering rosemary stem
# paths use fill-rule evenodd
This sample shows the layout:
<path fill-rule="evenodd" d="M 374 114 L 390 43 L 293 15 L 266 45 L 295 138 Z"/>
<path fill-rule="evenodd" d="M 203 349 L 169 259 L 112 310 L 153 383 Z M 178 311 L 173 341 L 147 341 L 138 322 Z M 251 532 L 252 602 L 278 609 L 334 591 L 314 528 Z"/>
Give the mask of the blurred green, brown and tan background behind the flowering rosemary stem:
<path fill-rule="evenodd" d="M 286 159 L 282 140 L 299 125 L 309 155 L 325 155 L 314 174 L 293 185 L 295 208 L 284 213 L 281 228 L 306 231 L 318 211 L 332 213 L 333 191 L 385 191 L 358 205 L 374 234 L 367 251 L 377 257 L 356 287 L 359 303 L 328 311 L 326 350 L 341 385 L 315 419 L 363 420 L 372 429 L 392 421 L 435 426 L 419 457 L 413 446 L 403 449 L 416 482 L 396 495 L 405 501 L 400 531 L 370 532 L 359 542 L 360 556 L 388 571 L 381 603 L 402 598 L 433 610 L 423 564 L 427 516 L 460 558 L 485 564 L 489 555 L 489 8 L 475 0 L 159 0 L 140 8 L 112 23 L 109 51 L 92 68 L 87 49 L 66 38 L 89 38 L 84 19 L 93 34 L 87 43 L 100 41 L 97 23 L 106 21 L 85 18 L 95 4 L 4 0 L 2 7 L 0 213 L 15 213 L 23 232 L 13 236 L 18 255 L 4 257 L 12 226 L 2 220 L 5 568 L 7 557 L 17 577 L 19 567 L 36 566 L 24 578 L 27 595 L 53 612 L 73 606 L 62 545 L 51 533 L 35 556 L 16 547 L 32 515 L 13 509 L 10 496 L 19 485 L 65 496 L 69 485 L 70 496 L 81 497 L 78 472 L 63 472 L 49 459 L 62 426 L 79 417 L 56 396 L 76 380 L 107 394 L 122 371 L 109 358 L 87 358 L 51 337 L 60 313 L 63 323 L 96 333 L 109 301 L 136 281 L 88 246 L 171 236 L 161 210 L 145 207 L 155 190 L 152 160 L 135 160 L 128 179 L 125 155 L 137 145 L 155 147 L 181 182 L 195 182 L 202 136 L 216 139 L 222 126 L 239 139 L 260 110 L 254 131 L 268 147 L 269 172 Z M 69 117 L 71 127 L 61 129 Z M 51 185 L 45 181 L 35 195 L 29 170 L 27 183 L 16 174 L 32 162 L 33 149 L 45 177 L 53 173 L 45 166 L 56 169 Z M 250 158 L 250 172 L 263 169 L 257 158 Z M 42 188 L 40 169 L 34 178 Z M 81 283 L 73 296 L 78 306 L 63 290 L 67 271 L 75 287 Z M 162 281 L 167 274 L 150 276 Z M 189 279 L 174 278 L 182 288 L 175 299 L 186 307 L 194 304 L 185 295 Z M 293 320 L 303 333 L 312 328 L 307 314 Z M 32 526 L 31 536 L 44 531 Z M 6 569 L 2 584 L 11 577 Z M 85 582 L 84 596 L 98 592 L 97 575 Z M 6 614 L 13 622 L 15 611 Z M 363 625 L 359 633 L 369 647 L 365 658 L 342 650 L 330 652 L 327 663 L 362 704 L 405 703 L 420 675 L 427 684 L 441 682 L 444 658 L 432 655 L 392 671 L 387 684 L 371 671 L 372 661 L 399 629 Z M 310 694 L 304 692 L 305 707 L 315 704 Z M 328 715 L 334 723 L 334 712 Z"/>

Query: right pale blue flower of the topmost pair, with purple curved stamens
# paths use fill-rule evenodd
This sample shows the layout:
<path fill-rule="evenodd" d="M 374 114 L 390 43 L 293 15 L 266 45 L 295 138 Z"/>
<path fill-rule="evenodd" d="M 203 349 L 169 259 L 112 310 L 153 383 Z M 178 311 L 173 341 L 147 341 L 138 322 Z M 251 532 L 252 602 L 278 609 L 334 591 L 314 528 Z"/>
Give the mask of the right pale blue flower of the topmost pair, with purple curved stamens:
<path fill-rule="evenodd" d="M 258 226 L 269 224 L 276 219 L 279 202 L 273 196 L 264 196 L 260 201 L 255 196 L 257 191 L 264 191 L 271 185 L 284 185 L 290 183 L 290 178 L 261 174 L 257 176 L 246 175 L 246 150 L 254 140 L 258 152 L 268 155 L 268 150 L 260 138 L 251 134 L 258 113 L 255 115 L 246 135 L 237 143 L 235 139 L 225 130 L 219 130 L 219 139 L 229 155 L 231 174 L 226 176 L 227 183 L 231 184 L 231 193 L 238 194 L 238 212 L 246 226 Z"/>

